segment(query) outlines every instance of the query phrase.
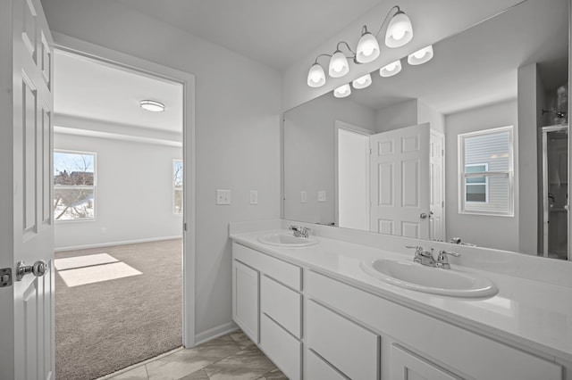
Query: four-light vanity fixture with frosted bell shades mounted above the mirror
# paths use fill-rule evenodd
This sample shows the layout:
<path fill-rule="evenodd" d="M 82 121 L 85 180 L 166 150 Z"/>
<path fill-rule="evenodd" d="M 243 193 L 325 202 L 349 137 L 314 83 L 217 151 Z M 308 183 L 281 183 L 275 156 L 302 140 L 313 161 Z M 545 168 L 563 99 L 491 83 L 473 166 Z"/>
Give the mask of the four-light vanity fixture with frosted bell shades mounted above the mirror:
<path fill-rule="evenodd" d="M 395 12 L 394 12 L 395 11 Z M 336 50 L 333 54 L 319 54 L 315 57 L 315 62 L 310 67 L 307 75 L 307 85 L 309 87 L 322 87 L 325 84 L 324 68 L 318 63 L 318 58 L 323 56 L 330 57 L 328 65 L 328 74 L 332 78 L 341 78 L 349 72 L 348 59 L 353 60 L 354 63 L 368 63 L 374 62 L 380 55 L 380 46 L 377 41 L 377 36 L 381 33 L 383 25 L 391 17 L 385 32 L 385 45 L 389 47 L 400 47 L 406 45 L 411 38 L 413 38 L 413 27 L 411 21 L 405 12 L 401 11 L 398 5 L 393 6 L 385 16 L 380 29 L 375 35 L 367 30 L 366 25 L 361 29 L 361 37 L 357 42 L 357 48 L 354 52 L 346 41 L 341 41 L 336 45 Z M 349 55 L 341 51 L 343 45 L 349 50 Z"/>

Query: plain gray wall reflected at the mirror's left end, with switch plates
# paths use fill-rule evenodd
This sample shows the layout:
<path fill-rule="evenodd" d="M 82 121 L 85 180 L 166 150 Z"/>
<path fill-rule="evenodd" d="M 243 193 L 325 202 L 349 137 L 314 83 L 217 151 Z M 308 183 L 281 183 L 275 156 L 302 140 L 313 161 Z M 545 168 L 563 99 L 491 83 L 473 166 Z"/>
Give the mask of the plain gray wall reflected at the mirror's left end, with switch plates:
<path fill-rule="evenodd" d="M 335 121 L 374 131 L 374 115 L 330 94 L 284 113 L 284 219 L 334 221 Z M 301 202 L 303 190 L 306 203 Z M 318 191 L 326 192 L 326 202 L 317 202 Z"/>

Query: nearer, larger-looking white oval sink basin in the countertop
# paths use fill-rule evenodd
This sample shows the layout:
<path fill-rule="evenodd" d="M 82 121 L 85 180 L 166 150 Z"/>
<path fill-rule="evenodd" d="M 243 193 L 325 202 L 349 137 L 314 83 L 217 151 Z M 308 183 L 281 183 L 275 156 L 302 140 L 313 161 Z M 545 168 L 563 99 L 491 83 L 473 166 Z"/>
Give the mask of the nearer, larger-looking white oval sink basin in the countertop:
<path fill-rule="evenodd" d="M 457 268 L 442 269 L 397 260 L 363 261 L 361 268 L 389 284 L 453 297 L 488 297 L 499 289 L 486 277 Z"/>

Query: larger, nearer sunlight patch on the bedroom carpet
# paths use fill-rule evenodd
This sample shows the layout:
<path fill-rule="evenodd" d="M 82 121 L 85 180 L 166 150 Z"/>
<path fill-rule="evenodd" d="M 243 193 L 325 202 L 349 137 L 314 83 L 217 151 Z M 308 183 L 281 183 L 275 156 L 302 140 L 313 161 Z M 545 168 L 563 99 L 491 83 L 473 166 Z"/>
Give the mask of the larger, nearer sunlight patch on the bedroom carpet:
<path fill-rule="evenodd" d="M 138 276 L 139 270 L 130 267 L 124 262 L 97 265 L 95 267 L 76 268 L 58 271 L 63 282 L 68 287 L 99 283 L 122 277 Z"/>

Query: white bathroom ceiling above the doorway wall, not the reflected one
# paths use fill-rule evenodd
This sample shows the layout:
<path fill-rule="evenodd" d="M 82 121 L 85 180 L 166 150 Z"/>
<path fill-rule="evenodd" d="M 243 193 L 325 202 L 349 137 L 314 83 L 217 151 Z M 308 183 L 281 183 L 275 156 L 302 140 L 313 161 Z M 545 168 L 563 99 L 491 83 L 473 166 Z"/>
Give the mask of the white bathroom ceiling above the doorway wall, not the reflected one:
<path fill-rule="evenodd" d="M 284 70 L 381 0 L 115 0 Z M 359 33 L 359 30 L 356 30 Z"/>

